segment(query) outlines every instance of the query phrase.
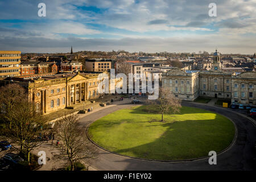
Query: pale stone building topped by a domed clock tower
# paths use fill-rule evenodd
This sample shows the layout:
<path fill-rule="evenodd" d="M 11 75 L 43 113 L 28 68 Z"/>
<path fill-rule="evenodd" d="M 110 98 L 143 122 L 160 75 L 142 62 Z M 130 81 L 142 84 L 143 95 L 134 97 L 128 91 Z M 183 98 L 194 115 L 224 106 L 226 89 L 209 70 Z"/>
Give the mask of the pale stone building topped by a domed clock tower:
<path fill-rule="evenodd" d="M 175 96 L 183 100 L 193 101 L 200 96 L 256 105 L 256 72 L 222 72 L 217 50 L 213 57 L 210 71 L 173 68 L 163 73 L 163 86 L 170 87 Z"/>

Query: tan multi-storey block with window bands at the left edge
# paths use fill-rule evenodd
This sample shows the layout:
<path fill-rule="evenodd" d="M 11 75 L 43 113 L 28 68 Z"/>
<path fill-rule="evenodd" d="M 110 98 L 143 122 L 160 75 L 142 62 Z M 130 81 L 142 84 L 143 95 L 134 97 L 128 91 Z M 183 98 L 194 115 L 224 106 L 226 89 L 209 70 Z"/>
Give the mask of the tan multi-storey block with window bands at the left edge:
<path fill-rule="evenodd" d="M 0 77 L 20 76 L 20 51 L 0 51 Z"/>

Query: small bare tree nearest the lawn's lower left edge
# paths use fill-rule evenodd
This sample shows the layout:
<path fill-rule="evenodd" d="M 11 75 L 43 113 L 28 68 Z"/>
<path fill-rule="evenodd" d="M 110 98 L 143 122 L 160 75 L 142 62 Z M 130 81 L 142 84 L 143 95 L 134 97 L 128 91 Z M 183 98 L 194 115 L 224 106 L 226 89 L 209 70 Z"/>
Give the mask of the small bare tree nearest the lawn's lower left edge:
<path fill-rule="evenodd" d="M 86 139 L 85 130 L 79 128 L 78 120 L 77 114 L 64 115 L 56 125 L 57 136 L 65 147 L 60 158 L 68 159 L 72 171 L 75 169 L 74 164 L 77 160 L 96 156 L 95 150 Z"/>

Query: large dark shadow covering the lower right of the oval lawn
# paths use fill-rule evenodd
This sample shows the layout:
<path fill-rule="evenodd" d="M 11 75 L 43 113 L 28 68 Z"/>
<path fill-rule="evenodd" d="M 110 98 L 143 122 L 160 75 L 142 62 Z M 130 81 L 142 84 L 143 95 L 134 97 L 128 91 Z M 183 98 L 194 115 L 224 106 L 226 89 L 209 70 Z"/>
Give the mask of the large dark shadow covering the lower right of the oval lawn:
<path fill-rule="evenodd" d="M 168 129 L 154 142 L 116 150 L 115 152 L 138 158 L 158 160 L 180 160 L 207 156 L 209 151 L 221 151 L 229 146 L 233 140 L 234 134 L 227 134 L 229 129 L 216 134 L 220 125 L 216 127 L 215 123 L 214 119 L 163 123 L 162 126 L 168 127 Z M 154 126 L 158 125 L 147 127 Z M 225 137 L 226 139 L 224 139 Z"/>

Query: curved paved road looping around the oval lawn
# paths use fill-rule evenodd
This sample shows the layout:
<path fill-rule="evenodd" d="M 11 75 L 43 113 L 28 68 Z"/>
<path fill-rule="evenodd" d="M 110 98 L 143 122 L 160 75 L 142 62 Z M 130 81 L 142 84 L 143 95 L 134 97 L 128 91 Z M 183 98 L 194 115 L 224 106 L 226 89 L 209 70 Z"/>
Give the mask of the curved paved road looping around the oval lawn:
<path fill-rule="evenodd" d="M 256 129 L 245 117 L 236 113 L 224 110 L 221 107 L 200 105 L 194 102 L 187 102 L 184 106 L 193 106 L 201 109 L 214 111 L 232 119 L 237 126 L 237 140 L 234 145 L 222 154 L 217 155 L 217 165 L 209 165 L 208 159 L 194 160 L 191 162 L 152 162 L 148 160 L 139 160 L 127 158 L 98 149 L 98 159 L 86 160 L 86 163 L 99 170 L 252 170 L 252 159 L 254 142 L 256 140 Z M 106 114 L 113 111 L 133 106 L 123 102 L 119 105 L 94 111 L 80 119 L 82 127 L 88 126 Z"/>

